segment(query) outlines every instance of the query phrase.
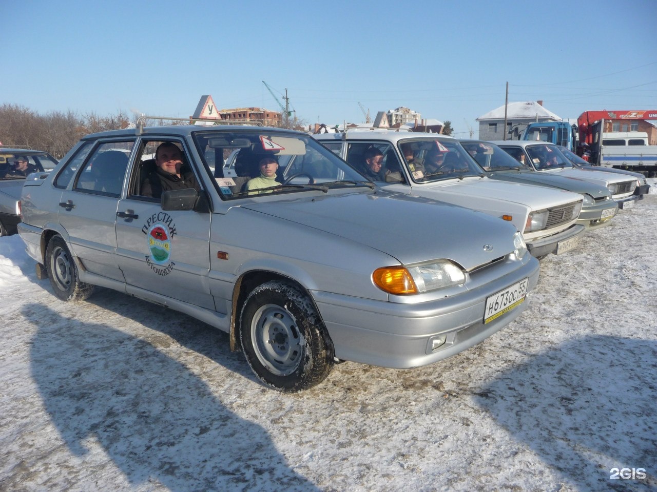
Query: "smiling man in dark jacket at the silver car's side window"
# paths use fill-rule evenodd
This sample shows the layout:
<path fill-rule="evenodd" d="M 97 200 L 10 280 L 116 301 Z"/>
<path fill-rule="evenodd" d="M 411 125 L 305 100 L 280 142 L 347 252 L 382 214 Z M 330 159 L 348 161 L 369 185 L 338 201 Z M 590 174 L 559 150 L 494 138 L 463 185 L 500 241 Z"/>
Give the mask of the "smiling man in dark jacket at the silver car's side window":
<path fill-rule="evenodd" d="M 163 142 L 155 151 L 157 168 L 150 173 L 141 186 L 141 195 L 160 198 L 162 192 L 194 188 L 200 191 L 192 171 L 184 172 L 183 154 L 173 142 Z"/>

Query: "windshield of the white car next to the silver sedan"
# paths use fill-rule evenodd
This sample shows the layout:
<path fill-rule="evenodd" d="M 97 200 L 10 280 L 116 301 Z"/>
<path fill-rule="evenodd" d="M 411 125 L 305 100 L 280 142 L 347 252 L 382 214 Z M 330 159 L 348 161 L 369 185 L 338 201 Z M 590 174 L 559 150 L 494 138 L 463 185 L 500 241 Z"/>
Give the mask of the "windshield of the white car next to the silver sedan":
<path fill-rule="evenodd" d="M 456 140 L 438 138 L 401 140 L 399 152 L 404 158 L 409 174 L 418 183 L 484 174 L 483 169 Z"/>

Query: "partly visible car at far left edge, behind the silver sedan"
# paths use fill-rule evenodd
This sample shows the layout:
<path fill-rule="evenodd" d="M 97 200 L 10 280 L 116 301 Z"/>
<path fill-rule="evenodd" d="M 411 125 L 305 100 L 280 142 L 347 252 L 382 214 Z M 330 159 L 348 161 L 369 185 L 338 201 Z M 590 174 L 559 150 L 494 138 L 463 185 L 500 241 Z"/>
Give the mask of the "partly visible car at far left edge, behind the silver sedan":
<path fill-rule="evenodd" d="M 57 159 L 40 150 L 0 148 L 0 236 L 16 234 L 20 222 L 20 190 L 35 171 L 53 169 Z"/>

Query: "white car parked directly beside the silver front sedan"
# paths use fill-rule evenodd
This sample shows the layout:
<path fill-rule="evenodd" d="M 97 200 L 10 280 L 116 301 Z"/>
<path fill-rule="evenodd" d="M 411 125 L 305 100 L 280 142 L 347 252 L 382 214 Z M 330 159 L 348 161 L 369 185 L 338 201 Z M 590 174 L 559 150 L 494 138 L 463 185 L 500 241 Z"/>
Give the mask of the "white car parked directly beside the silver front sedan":
<path fill-rule="evenodd" d="M 493 180 L 470 157 L 459 140 L 435 133 L 353 129 L 313 135 L 354 167 L 363 169 L 364 154 L 376 148 L 387 173 L 378 186 L 461 205 L 511 222 L 533 256 L 564 253 L 579 243 L 584 226 L 576 224 L 579 194 L 541 186 Z M 405 155 L 408 153 L 408 155 Z M 441 154 L 440 169 L 428 159 Z"/>

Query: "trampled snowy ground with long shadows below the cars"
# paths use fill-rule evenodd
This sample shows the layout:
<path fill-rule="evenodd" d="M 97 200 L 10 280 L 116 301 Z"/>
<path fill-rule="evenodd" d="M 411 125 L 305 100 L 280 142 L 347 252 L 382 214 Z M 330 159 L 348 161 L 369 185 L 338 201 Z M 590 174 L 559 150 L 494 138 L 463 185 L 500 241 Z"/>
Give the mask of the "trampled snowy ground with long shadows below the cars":
<path fill-rule="evenodd" d="M 2 237 L 0 491 L 656 491 L 656 245 L 651 194 L 478 346 L 285 395 L 183 314 L 60 302 Z"/>

